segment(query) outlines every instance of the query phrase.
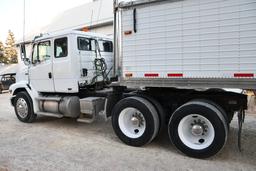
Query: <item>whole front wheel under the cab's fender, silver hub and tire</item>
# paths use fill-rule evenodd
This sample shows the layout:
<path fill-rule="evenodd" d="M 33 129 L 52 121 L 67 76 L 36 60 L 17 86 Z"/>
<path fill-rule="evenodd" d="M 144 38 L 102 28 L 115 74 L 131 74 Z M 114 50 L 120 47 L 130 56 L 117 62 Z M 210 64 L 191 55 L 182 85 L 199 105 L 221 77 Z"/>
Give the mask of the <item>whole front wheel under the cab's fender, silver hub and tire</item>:
<path fill-rule="evenodd" d="M 27 92 L 19 92 L 14 99 L 15 113 L 21 122 L 31 123 L 36 119 L 33 103 Z"/>

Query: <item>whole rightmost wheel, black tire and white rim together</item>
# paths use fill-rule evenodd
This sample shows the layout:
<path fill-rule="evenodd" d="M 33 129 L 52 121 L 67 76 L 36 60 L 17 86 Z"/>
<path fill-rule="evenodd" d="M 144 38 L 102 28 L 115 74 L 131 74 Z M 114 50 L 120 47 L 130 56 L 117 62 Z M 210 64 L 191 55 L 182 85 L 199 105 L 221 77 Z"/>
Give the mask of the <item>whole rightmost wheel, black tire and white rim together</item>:
<path fill-rule="evenodd" d="M 181 152 L 196 158 L 218 153 L 228 135 L 221 111 L 202 101 L 191 101 L 179 107 L 170 118 L 168 131 L 172 143 Z"/>

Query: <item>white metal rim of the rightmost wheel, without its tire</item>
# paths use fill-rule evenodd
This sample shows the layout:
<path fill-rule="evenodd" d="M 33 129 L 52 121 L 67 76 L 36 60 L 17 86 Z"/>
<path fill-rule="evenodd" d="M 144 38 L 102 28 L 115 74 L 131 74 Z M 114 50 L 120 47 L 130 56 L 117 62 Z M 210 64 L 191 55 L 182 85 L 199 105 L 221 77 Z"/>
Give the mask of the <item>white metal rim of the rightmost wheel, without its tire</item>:
<path fill-rule="evenodd" d="M 212 144 L 215 131 L 212 123 L 206 117 L 190 114 L 180 121 L 178 135 L 187 147 L 202 150 Z"/>

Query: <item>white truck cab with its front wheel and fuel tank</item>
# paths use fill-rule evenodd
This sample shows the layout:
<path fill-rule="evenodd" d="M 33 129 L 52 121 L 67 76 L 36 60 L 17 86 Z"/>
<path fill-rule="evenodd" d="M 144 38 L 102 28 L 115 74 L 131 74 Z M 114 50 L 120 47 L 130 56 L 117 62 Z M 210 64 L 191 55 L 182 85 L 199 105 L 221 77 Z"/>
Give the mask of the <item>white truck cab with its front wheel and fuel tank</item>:
<path fill-rule="evenodd" d="M 40 35 L 32 42 L 28 58 L 24 44 L 20 49 L 26 68 L 18 73 L 21 79 L 10 91 L 15 111 L 25 122 L 28 107 L 36 114 L 78 117 L 79 94 L 103 89 L 113 76 L 112 39 L 102 34 L 66 31 Z M 101 98 L 93 100 L 102 102 Z"/>

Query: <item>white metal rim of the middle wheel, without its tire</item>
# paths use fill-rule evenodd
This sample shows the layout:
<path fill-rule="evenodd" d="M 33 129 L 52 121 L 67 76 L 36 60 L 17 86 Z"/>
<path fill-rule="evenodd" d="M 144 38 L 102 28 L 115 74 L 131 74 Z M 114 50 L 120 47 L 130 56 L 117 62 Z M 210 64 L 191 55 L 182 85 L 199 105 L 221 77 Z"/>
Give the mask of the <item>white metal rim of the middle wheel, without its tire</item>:
<path fill-rule="evenodd" d="M 143 114 L 136 108 L 129 107 L 121 111 L 118 124 L 123 134 L 129 138 L 138 138 L 146 129 L 146 121 Z"/>

